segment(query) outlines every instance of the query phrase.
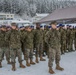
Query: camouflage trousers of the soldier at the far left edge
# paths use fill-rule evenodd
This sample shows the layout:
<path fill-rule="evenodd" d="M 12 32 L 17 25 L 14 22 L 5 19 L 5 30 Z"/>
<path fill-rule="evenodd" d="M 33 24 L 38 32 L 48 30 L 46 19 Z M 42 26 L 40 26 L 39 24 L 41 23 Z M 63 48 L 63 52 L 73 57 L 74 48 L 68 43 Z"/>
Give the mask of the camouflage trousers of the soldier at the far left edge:
<path fill-rule="evenodd" d="M 9 48 L 0 48 L 0 62 L 2 62 L 3 55 L 6 55 L 6 60 L 10 60 L 10 49 Z"/>

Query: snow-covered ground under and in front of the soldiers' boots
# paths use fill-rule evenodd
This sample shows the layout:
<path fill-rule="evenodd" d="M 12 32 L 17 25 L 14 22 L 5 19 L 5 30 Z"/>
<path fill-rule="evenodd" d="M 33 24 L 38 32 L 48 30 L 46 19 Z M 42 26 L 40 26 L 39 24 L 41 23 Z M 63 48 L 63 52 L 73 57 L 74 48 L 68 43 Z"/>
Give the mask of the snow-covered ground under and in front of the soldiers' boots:
<path fill-rule="evenodd" d="M 47 59 L 47 57 L 46 57 Z M 23 62 L 25 64 L 25 61 Z M 48 59 L 45 62 L 41 62 L 31 67 L 26 67 L 25 69 L 19 68 L 18 62 L 16 63 L 17 70 L 15 72 L 11 71 L 11 65 L 7 65 L 4 60 L 3 68 L 0 68 L 0 75 L 51 75 L 48 73 Z M 53 75 L 76 75 L 76 52 L 66 53 L 62 55 L 61 66 L 64 67 L 64 71 L 55 70 L 56 74 Z"/>

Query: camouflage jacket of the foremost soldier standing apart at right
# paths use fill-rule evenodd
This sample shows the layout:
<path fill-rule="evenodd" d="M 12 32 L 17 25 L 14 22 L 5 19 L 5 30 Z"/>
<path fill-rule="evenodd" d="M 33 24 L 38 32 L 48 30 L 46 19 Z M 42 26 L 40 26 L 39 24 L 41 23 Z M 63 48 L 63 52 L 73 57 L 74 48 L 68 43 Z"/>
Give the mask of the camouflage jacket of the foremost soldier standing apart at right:
<path fill-rule="evenodd" d="M 49 30 L 46 33 L 45 41 L 51 48 L 60 47 L 60 32 L 56 29 Z"/>

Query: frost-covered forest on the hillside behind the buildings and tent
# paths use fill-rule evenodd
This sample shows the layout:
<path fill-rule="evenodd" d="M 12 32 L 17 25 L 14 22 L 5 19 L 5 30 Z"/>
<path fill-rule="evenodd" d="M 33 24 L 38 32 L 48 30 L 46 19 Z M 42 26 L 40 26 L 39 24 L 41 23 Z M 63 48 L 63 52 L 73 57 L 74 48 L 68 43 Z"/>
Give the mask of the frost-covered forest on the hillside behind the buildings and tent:
<path fill-rule="evenodd" d="M 51 13 L 75 5 L 75 0 L 0 0 L 0 12 L 33 17 L 36 13 Z"/>

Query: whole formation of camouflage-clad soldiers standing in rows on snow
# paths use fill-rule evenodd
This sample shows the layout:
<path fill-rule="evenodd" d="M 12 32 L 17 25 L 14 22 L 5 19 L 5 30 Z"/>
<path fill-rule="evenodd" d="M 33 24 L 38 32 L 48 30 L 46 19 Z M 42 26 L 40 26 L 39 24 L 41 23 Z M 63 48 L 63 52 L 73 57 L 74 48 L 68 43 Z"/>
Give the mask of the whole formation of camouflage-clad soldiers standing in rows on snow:
<path fill-rule="evenodd" d="M 25 68 L 22 63 L 22 55 L 26 61 L 26 66 L 30 67 L 40 61 L 46 61 L 44 56 L 48 56 L 49 73 L 54 74 L 53 62 L 55 59 L 56 69 L 63 71 L 60 67 L 60 56 L 66 52 L 72 52 L 73 45 L 76 50 L 76 27 L 67 25 L 57 25 L 52 22 L 50 26 L 21 26 L 18 28 L 16 23 L 10 26 L 0 27 L 0 68 L 2 60 L 6 56 L 7 64 L 12 65 L 12 70 L 16 70 L 16 57 L 20 68 Z M 35 61 L 33 56 L 35 55 Z"/>

